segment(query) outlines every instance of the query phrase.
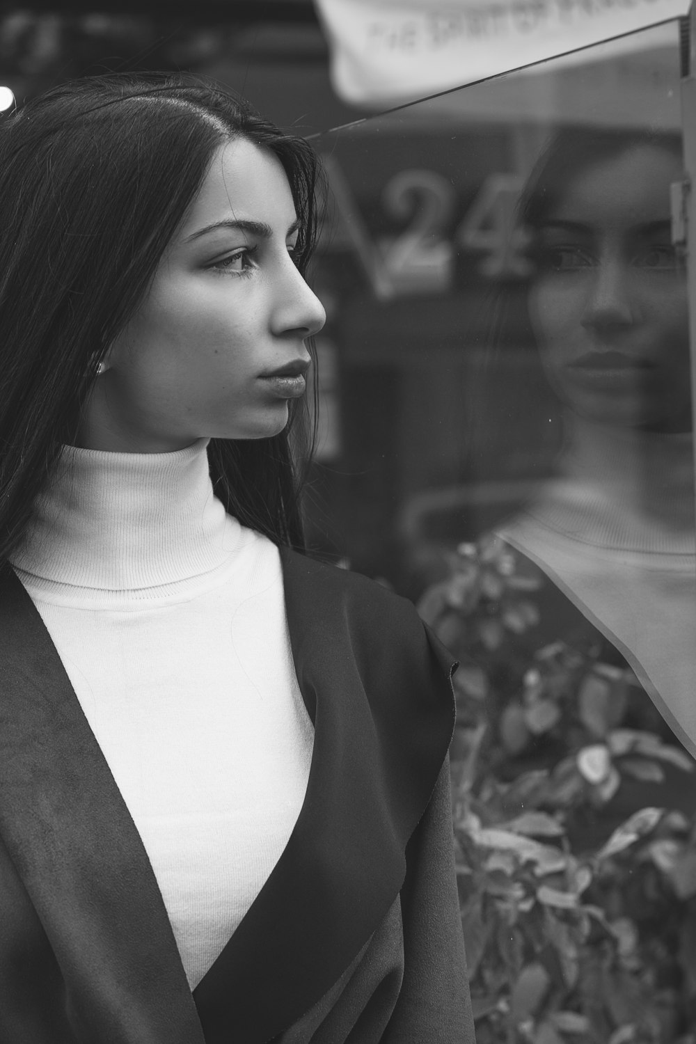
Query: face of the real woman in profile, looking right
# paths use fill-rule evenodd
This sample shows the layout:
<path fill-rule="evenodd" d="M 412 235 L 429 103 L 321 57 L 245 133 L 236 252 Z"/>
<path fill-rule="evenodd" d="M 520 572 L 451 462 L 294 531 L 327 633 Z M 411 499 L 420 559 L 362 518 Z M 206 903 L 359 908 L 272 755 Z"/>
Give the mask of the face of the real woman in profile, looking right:
<path fill-rule="evenodd" d="M 278 158 L 221 146 L 150 291 L 97 378 L 82 446 L 167 452 L 278 434 L 305 390 L 321 304 L 292 252 L 297 216 Z"/>

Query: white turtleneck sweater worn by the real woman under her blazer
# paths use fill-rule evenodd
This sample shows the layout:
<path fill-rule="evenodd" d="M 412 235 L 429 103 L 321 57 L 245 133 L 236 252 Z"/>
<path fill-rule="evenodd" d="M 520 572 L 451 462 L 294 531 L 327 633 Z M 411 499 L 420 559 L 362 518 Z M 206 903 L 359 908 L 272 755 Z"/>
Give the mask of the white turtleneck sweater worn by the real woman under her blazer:
<path fill-rule="evenodd" d="M 225 514 L 207 446 L 66 447 L 13 560 L 140 832 L 191 989 L 285 848 L 313 745 L 278 548 Z"/>

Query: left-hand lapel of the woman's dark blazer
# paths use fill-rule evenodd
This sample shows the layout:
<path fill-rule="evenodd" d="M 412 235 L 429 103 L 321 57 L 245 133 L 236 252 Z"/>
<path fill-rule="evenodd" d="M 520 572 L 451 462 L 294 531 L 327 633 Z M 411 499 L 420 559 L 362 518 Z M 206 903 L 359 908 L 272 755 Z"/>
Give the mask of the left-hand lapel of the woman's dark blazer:
<path fill-rule="evenodd" d="M 203 1044 L 140 835 L 9 568 L 0 691 L 0 834 L 61 967 L 75 1039 Z"/>

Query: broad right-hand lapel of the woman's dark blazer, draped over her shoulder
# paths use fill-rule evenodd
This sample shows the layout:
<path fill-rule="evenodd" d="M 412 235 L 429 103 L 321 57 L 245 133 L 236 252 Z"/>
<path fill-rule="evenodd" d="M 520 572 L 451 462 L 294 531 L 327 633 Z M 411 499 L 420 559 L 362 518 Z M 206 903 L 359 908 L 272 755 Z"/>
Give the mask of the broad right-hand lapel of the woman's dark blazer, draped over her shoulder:
<path fill-rule="evenodd" d="M 271 1040 L 353 960 L 401 888 L 454 728 L 452 658 L 410 603 L 281 555 L 312 765 L 285 851 L 194 991 L 207 1044 Z"/>

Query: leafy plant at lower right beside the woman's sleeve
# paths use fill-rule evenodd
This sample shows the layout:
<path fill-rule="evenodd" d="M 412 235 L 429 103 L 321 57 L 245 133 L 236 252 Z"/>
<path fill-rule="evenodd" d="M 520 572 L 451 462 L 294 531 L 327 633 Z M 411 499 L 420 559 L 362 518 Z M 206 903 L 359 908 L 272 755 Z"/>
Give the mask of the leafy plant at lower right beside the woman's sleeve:
<path fill-rule="evenodd" d="M 651 705 L 635 720 L 640 684 L 596 632 L 537 644 L 549 580 L 528 560 L 486 538 L 449 565 L 419 611 L 461 661 L 453 812 L 478 1044 L 693 1044 L 696 825 L 654 805 L 617 823 L 615 801 L 670 774 L 686 789 L 692 758 Z"/>

